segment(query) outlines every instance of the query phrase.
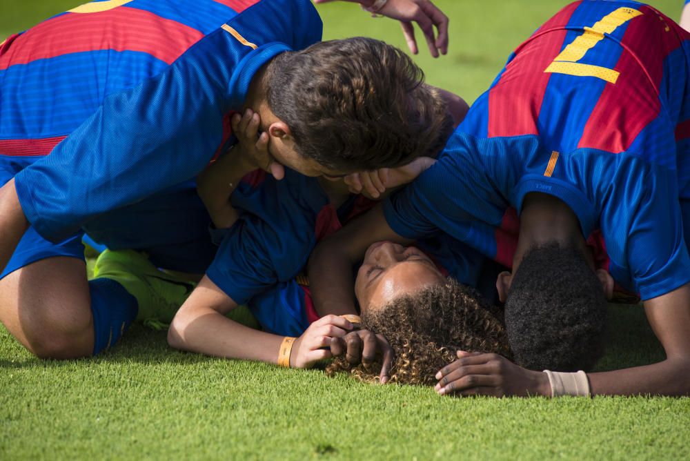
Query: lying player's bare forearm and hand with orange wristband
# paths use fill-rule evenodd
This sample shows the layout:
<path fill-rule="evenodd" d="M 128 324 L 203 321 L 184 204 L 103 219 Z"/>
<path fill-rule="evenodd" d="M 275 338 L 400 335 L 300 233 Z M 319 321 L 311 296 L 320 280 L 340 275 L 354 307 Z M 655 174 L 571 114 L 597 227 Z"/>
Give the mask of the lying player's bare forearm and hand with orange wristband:
<path fill-rule="evenodd" d="M 259 360 L 277 364 L 283 337 L 238 324 L 225 316 L 237 307 L 208 277 L 204 277 L 177 311 L 168 330 L 168 344 L 216 357 Z M 293 346 L 290 366 L 307 368 L 330 358 L 333 337 L 342 337 L 353 325 L 342 317 L 326 316 L 314 322 Z"/>

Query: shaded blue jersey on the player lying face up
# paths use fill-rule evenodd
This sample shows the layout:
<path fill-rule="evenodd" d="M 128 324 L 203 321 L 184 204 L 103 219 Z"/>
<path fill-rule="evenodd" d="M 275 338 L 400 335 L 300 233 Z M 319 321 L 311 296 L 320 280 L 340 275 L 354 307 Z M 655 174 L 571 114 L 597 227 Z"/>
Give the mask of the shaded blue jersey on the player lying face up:
<path fill-rule="evenodd" d="M 261 170 L 246 176 L 231 201 L 240 217 L 221 230 L 222 242 L 206 275 L 233 301 L 248 304 L 265 331 L 301 335 L 318 316 L 306 277 L 295 276 L 320 239 L 375 202 L 351 195 L 336 210 L 317 178 L 289 169 L 281 181 Z M 418 246 L 447 275 L 477 286 L 483 255 L 442 233 Z"/>

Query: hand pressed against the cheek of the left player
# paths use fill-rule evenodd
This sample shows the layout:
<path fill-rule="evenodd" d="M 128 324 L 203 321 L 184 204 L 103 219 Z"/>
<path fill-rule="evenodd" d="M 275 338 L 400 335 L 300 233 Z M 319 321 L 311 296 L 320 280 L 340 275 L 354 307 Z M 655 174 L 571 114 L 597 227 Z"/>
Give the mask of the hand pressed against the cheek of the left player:
<path fill-rule="evenodd" d="M 259 134 L 259 114 L 247 109 L 242 116 L 239 113 L 233 115 L 230 124 L 239 144 L 239 152 L 236 155 L 242 156 L 242 161 L 252 166 L 252 170 L 260 168 L 273 175 L 275 179 L 283 179 L 284 166 L 275 161 L 268 152 L 268 133 Z"/>

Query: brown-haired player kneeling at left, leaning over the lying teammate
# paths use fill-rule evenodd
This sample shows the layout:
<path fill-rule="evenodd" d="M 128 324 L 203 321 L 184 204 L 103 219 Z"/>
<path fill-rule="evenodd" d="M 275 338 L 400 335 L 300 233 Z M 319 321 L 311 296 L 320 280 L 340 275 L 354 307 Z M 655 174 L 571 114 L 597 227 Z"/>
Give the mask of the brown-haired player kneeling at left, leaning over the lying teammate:
<path fill-rule="evenodd" d="M 245 106 L 270 151 L 250 161 L 277 176 L 392 166 L 437 142 L 443 105 L 408 57 L 321 31 L 306 0 L 99 1 L 3 42 L 0 320 L 21 344 L 92 355 L 179 306 L 188 280 L 157 268 L 201 274 L 213 259 L 193 178 L 235 142 Z M 108 258 L 88 281 L 85 230 L 150 261 Z"/>

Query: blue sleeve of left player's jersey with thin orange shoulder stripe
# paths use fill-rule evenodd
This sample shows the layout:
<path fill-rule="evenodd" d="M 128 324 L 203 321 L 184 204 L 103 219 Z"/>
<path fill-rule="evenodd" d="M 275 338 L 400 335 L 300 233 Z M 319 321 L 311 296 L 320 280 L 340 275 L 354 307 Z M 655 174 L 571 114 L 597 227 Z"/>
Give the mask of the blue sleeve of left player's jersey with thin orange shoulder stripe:
<path fill-rule="evenodd" d="M 194 177 L 255 71 L 322 31 L 306 0 L 263 1 L 228 26 L 249 44 L 223 28 L 210 33 L 161 74 L 106 97 L 50 155 L 17 174 L 21 207 L 43 237 L 59 241 L 96 215 Z"/>

